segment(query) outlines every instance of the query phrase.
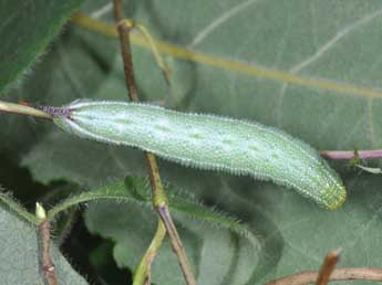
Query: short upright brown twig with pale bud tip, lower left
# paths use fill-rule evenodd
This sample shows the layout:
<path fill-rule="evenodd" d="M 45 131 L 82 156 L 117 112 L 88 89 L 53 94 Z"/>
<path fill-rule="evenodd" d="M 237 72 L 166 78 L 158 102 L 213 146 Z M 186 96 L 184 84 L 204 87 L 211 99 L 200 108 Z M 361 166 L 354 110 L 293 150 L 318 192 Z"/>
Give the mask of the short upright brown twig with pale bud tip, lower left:
<path fill-rule="evenodd" d="M 35 215 L 41 220 L 39 224 L 40 235 L 41 235 L 41 246 L 42 246 L 42 272 L 45 281 L 49 285 L 58 285 L 58 278 L 55 276 L 54 264 L 50 255 L 50 243 L 51 243 L 51 224 L 47 220 L 45 210 L 40 203 L 35 203 Z"/>

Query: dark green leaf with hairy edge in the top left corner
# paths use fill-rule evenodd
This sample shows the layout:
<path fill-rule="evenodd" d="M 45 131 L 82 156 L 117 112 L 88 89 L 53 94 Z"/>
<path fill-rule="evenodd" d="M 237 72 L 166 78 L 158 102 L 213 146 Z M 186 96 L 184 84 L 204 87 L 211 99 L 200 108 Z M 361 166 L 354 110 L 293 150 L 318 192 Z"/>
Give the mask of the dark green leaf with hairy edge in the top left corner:
<path fill-rule="evenodd" d="M 83 0 L 1 2 L 0 93 L 30 67 L 82 3 Z"/>

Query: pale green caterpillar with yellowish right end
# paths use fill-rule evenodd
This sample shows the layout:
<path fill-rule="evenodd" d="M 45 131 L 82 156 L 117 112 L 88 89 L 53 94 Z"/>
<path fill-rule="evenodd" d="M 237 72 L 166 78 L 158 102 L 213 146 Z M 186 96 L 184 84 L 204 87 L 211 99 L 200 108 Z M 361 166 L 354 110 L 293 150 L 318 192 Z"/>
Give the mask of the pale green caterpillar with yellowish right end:
<path fill-rule="evenodd" d="M 124 102 L 75 101 L 43 110 L 79 137 L 135 147 L 184 166 L 271 180 L 327 209 L 339 208 L 347 197 L 340 177 L 317 150 L 259 123 Z"/>

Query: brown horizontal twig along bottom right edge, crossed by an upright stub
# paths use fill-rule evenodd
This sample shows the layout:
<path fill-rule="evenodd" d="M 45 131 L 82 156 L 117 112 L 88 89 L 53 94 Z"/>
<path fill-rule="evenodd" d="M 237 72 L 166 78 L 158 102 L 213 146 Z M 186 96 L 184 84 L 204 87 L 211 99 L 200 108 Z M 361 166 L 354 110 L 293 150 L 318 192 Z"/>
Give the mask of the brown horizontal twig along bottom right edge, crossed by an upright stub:
<path fill-rule="evenodd" d="M 266 283 L 266 285 L 304 285 L 314 283 L 319 276 L 318 271 L 301 272 L 289 275 L 276 281 Z M 343 267 L 335 268 L 330 281 L 379 281 L 382 282 L 382 268 L 373 267 Z"/>

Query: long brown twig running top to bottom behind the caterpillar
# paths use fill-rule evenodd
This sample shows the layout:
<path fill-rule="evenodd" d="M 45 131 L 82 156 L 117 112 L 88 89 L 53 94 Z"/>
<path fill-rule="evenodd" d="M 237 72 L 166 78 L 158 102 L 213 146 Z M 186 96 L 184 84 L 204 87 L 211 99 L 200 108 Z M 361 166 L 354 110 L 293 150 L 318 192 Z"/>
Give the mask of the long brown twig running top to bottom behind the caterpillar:
<path fill-rule="evenodd" d="M 125 80 L 128 89 L 128 96 L 132 101 L 138 101 L 137 89 L 135 85 L 134 72 L 133 72 L 133 60 L 132 60 L 132 51 L 130 44 L 130 29 L 131 27 L 127 25 L 126 21 L 123 20 L 123 7 L 122 0 L 114 0 L 114 15 L 117 22 L 117 30 L 120 34 L 121 41 L 121 49 L 122 49 L 122 57 L 124 61 L 124 71 L 125 71 Z M 168 233 L 169 242 L 174 252 L 178 257 L 178 262 L 185 277 L 185 281 L 188 285 L 196 285 L 196 281 L 185 254 L 184 246 L 179 239 L 179 235 L 176 231 L 173 220 L 171 219 L 167 205 L 167 198 L 163 190 L 163 184 L 159 177 L 158 167 L 156 163 L 155 156 L 148 152 L 145 152 L 147 168 L 151 178 L 151 186 L 153 190 L 153 203 L 154 208 L 156 209 L 157 213 L 159 214 L 166 231 Z"/>

